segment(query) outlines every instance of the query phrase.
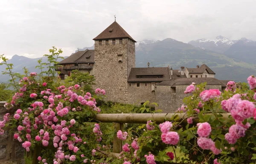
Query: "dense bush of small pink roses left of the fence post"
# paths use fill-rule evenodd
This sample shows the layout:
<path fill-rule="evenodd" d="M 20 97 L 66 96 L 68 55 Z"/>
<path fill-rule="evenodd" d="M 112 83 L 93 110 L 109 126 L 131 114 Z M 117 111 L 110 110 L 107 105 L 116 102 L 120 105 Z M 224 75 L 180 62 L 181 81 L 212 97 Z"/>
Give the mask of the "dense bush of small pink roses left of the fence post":
<path fill-rule="evenodd" d="M 90 93 L 81 90 L 80 85 L 53 86 L 50 81 L 35 82 L 37 76 L 36 73 L 31 73 L 29 77 L 20 80 L 20 88 L 26 89 L 20 89 L 12 101 L 6 103 L 9 109 L 19 102 L 20 109 L 16 110 L 13 117 L 9 113 L 4 116 L 4 121 L 0 122 L 1 134 L 4 133 L 5 124 L 18 124 L 14 139 L 20 141 L 26 151 L 36 146 L 43 149 L 49 146 L 55 148 L 53 161 L 48 160 L 52 154 L 47 154 L 47 151 L 38 157 L 38 161 L 56 164 L 64 161 L 76 163 L 78 156 L 84 154 L 79 160 L 86 163 L 92 154 L 84 153 L 84 149 L 92 150 L 93 147 L 88 145 L 89 141 L 84 136 L 88 135 L 94 139 L 93 143 L 100 143 L 102 140 L 99 124 L 95 124 L 91 131 L 86 129 L 93 125 L 89 122 L 85 123 L 84 127 L 80 126 L 88 116 L 100 111 L 96 107 L 96 99 Z M 30 90 L 32 93 L 29 93 Z M 99 94 L 105 94 L 105 90 L 100 89 Z M 26 99 L 29 103 L 22 103 Z M 76 110 L 72 110 L 73 108 Z M 69 158 L 66 158 L 67 156 Z"/>

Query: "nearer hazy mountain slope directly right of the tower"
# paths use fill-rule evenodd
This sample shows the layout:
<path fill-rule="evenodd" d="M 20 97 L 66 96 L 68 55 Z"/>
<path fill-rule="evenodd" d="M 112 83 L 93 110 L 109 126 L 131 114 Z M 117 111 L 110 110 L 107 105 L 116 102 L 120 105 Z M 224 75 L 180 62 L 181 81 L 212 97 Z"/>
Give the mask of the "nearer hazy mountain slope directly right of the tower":
<path fill-rule="evenodd" d="M 224 44 L 220 40 L 215 42 L 217 45 Z M 171 38 L 149 44 L 140 42 L 140 48 L 136 48 L 136 67 L 147 67 L 148 62 L 151 67 L 170 65 L 174 69 L 178 69 L 180 66 L 195 68 L 196 65 L 205 63 L 215 71 L 216 78 L 243 82 L 248 76 L 256 73 L 255 64 L 250 65 L 248 62 L 234 59 L 225 54 L 195 47 Z"/>

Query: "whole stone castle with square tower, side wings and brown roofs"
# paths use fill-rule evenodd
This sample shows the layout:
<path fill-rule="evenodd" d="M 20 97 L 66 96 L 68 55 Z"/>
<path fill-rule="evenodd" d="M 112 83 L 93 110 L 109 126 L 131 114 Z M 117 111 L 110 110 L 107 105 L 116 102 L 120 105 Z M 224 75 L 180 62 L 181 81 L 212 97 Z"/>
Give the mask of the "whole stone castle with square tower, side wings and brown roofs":
<path fill-rule="evenodd" d="M 105 89 L 113 102 L 143 104 L 156 102 L 164 112 L 182 105 L 184 90 L 192 82 L 207 82 L 206 89 L 223 91 L 227 81 L 215 79 L 205 64 L 196 68 L 135 68 L 135 40 L 115 21 L 94 39 L 95 49 L 78 51 L 59 62 L 59 76 L 65 79 L 74 69 L 87 72 L 96 79 L 95 88 Z"/>

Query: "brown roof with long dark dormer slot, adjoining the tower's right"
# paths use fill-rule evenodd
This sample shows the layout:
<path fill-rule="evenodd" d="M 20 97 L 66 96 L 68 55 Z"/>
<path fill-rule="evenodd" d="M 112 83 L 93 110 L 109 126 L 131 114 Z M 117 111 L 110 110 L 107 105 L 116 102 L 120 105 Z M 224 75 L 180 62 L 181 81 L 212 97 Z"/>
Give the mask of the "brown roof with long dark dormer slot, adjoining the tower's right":
<path fill-rule="evenodd" d="M 163 78 L 137 78 L 137 75 L 163 75 Z M 162 82 L 170 80 L 167 67 L 131 68 L 128 82 Z"/>

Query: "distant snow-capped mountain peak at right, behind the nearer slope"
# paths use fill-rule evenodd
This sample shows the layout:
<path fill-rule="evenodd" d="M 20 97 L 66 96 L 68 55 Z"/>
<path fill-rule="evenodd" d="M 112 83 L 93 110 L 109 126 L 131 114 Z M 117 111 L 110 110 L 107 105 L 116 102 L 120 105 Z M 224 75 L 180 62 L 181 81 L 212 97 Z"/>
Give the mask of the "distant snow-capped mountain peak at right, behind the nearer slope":
<path fill-rule="evenodd" d="M 210 51 L 223 53 L 224 51 L 227 51 L 231 45 L 233 45 L 235 42 L 232 40 L 227 39 L 223 36 L 218 36 L 215 39 L 198 39 L 198 40 L 192 40 L 188 42 L 189 44 L 207 49 Z"/>

